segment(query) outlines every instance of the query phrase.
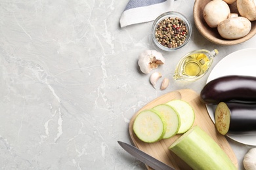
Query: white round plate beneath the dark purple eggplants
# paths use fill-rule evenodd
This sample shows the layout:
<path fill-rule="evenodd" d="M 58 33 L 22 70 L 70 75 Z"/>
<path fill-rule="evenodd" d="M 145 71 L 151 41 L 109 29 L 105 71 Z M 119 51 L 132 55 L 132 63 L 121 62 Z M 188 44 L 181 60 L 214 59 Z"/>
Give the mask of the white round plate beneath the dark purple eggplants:
<path fill-rule="evenodd" d="M 256 76 L 256 48 L 238 50 L 221 59 L 211 71 L 207 82 L 226 75 Z M 217 105 L 206 105 L 211 120 L 214 120 L 214 112 Z M 228 135 L 239 143 L 256 146 L 255 135 Z"/>

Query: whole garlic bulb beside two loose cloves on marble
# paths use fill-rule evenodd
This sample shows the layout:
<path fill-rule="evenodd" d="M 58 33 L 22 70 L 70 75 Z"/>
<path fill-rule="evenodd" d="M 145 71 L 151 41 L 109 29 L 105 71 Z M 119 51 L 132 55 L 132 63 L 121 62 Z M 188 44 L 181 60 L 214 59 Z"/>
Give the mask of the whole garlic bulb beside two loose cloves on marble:
<path fill-rule="evenodd" d="M 156 50 L 145 50 L 139 56 L 140 71 L 144 74 L 150 73 L 152 69 L 156 69 L 158 65 L 165 63 L 165 58 Z"/>

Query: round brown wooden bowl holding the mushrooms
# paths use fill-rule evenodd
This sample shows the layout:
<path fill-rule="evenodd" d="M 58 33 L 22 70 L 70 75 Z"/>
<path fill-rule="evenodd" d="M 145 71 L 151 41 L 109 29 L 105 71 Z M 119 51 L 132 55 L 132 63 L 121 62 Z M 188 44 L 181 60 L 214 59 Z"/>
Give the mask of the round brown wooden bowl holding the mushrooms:
<path fill-rule="evenodd" d="M 251 37 L 253 37 L 256 34 L 256 21 L 251 22 L 251 31 L 245 37 L 242 37 L 240 39 L 235 40 L 228 40 L 224 39 L 219 35 L 217 28 L 209 27 L 204 18 L 203 18 L 203 9 L 207 3 L 209 3 L 211 0 L 196 0 L 194 3 L 194 22 L 196 24 L 196 27 L 198 28 L 198 31 L 211 42 L 214 42 L 215 44 L 221 44 L 221 45 L 234 45 L 239 44 L 241 42 L 245 42 Z M 231 5 L 228 5 L 230 7 L 231 13 L 238 13 L 238 9 L 236 7 L 236 2 L 232 3 Z"/>

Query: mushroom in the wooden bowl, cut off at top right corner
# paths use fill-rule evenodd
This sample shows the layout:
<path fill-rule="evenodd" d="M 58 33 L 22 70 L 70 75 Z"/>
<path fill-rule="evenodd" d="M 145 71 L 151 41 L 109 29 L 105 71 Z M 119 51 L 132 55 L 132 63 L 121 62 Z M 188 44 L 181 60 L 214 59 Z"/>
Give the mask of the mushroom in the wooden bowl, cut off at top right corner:
<path fill-rule="evenodd" d="M 241 16 L 248 18 L 248 20 L 256 20 L 256 1 L 254 0 L 237 0 L 236 5 Z"/>

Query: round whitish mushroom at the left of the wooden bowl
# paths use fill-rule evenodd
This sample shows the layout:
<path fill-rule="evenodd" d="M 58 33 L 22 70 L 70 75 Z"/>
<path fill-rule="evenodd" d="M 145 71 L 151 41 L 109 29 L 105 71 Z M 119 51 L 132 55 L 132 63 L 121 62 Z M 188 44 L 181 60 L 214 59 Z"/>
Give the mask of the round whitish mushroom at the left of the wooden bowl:
<path fill-rule="evenodd" d="M 203 18 L 209 27 L 217 27 L 230 14 L 228 5 L 222 0 L 209 1 L 203 9 Z"/>

